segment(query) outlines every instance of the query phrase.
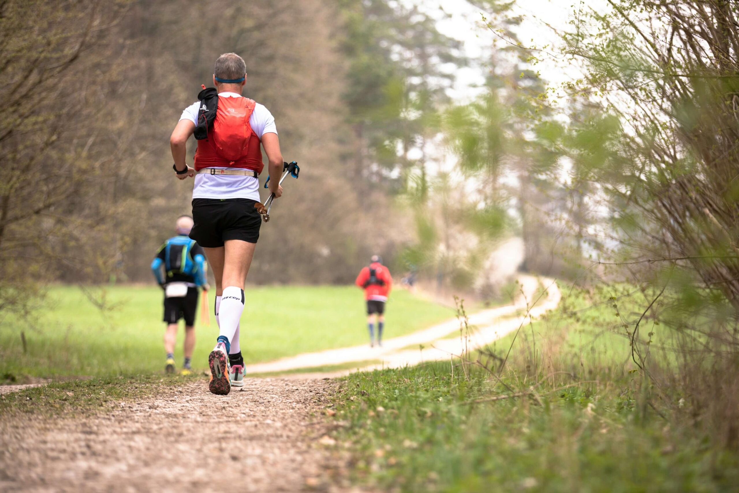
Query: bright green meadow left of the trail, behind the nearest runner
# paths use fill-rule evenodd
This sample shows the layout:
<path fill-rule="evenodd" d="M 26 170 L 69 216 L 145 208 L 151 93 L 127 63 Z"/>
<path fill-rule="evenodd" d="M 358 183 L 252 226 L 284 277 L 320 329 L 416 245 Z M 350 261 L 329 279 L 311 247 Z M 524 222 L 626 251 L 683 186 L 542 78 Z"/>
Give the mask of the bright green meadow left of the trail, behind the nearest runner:
<path fill-rule="evenodd" d="M 133 375 L 161 372 L 164 349 L 162 291 L 158 287 L 96 288 L 98 308 L 75 286 L 50 289 L 43 309 L 30 319 L 0 320 L 0 378 L 64 375 Z M 211 310 L 213 295 L 210 297 Z M 448 318 L 445 306 L 420 300 L 398 289 L 387 306 L 385 337 L 408 334 Z M 194 369 L 206 369 L 218 335 L 197 317 Z M 181 324 L 182 322 L 180 322 Z M 27 341 L 24 353 L 21 332 Z M 182 361 L 184 330 L 175 357 Z M 271 286 L 246 290 L 241 346 L 248 363 L 302 352 L 367 342 L 364 301 L 353 286 Z"/>

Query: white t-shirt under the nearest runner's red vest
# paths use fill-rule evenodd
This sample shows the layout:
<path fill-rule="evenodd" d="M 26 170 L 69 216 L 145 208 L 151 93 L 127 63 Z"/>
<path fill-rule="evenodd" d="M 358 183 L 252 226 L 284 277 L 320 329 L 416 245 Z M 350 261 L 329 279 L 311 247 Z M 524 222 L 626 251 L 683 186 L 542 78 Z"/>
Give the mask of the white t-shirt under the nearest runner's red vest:
<path fill-rule="evenodd" d="M 242 97 L 242 95 L 236 93 L 219 93 L 219 96 L 225 98 Z M 197 125 L 199 109 L 200 101 L 191 104 L 185 108 L 180 120 L 190 120 Z M 277 133 L 272 113 L 259 103 L 254 107 L 254 112 L 251 113 L 249 124 L 259 140 L 262 139 L 262 135 L 265 135 L 265 133 Z M 225 169 L 223 167 L 211 167 L 217 170 Z M 208 175 L 205 173 L 195 175 L 192 198 L 251 198 L 251 200 L 259 202 L 259 180 L 251 176 Z"/>

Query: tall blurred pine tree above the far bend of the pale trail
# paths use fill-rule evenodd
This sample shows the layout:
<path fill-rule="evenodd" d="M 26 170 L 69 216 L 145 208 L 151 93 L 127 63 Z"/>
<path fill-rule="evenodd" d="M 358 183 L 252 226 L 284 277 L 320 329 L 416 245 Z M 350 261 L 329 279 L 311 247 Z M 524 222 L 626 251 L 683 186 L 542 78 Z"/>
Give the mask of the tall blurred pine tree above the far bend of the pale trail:
<path fill-rule="evenodd" d="M 511 2 L 472 1 L 488 12 L 488 27 L 496 36 L 488 62 L 486 91 L 471 104 L 447 113 L 447 134 L 460 158 L 460 169 L 479 185 L 477 229 L 500 228 L 511 206 L 517 210 L 525 244 L 524 269 L 546 269 L 542 236 L 551 229 L 549 204 L 559 194 L 546 179 L 558 156 L 550 145 L 558 125 L 542 104 L 545 81 L 531 66 L 528 52 L 517 38 L 521 19 L 509 16 Z M 494 25 L 493 25 L 494 23 Z M 508 180 L 505 184 L 501 178 Z M 510 178 L 515 178 L 515 184 Z M 485 227 L 486 221 L 488 222 Z"/>

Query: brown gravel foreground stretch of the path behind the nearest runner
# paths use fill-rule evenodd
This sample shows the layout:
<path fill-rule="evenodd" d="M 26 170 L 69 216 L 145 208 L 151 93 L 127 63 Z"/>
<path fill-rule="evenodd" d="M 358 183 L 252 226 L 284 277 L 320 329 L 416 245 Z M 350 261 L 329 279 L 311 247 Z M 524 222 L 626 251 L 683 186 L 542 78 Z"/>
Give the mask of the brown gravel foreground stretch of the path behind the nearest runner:
<path fill-rule="evenodd" d="M 0 491 L 329 491 L 318 413 L 333 385 L 251 379 L 221 397 L 188 383 L 84 419 L 6 417 Z"/>

